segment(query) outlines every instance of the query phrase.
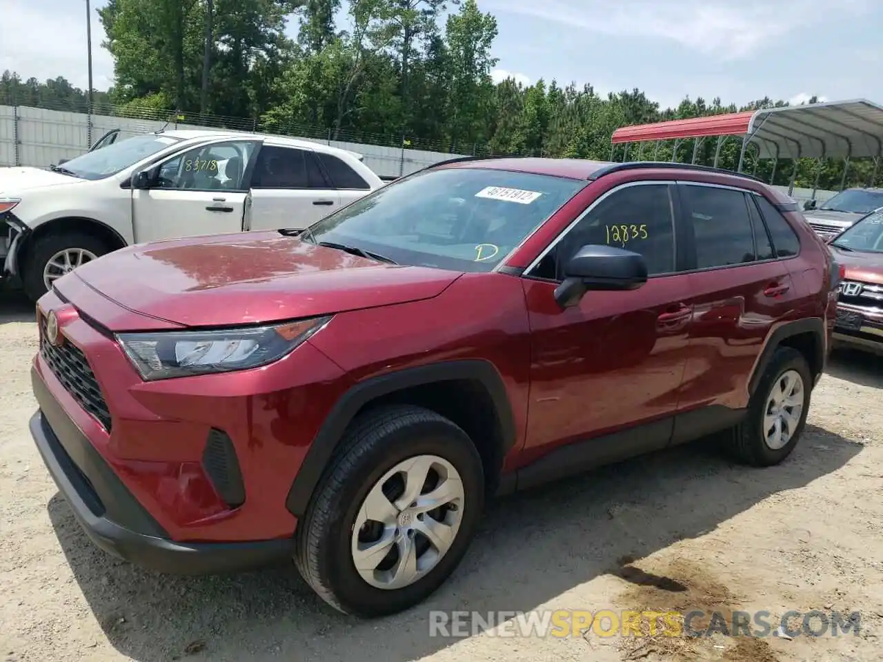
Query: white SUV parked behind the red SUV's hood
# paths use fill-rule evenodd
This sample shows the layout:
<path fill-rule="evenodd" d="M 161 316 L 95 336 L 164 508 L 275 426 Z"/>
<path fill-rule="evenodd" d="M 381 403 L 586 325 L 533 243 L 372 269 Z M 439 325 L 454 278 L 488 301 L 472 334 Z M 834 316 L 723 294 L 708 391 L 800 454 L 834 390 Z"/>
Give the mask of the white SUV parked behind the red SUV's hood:
<path fill-rule="evenodd" d="M 306 228 L 383 184 L 359 154 L 217 131 L 147 133 L 49 170 L 0 168 L 3 276 L 36 300 L 57 277 L 126 245 Z"/>

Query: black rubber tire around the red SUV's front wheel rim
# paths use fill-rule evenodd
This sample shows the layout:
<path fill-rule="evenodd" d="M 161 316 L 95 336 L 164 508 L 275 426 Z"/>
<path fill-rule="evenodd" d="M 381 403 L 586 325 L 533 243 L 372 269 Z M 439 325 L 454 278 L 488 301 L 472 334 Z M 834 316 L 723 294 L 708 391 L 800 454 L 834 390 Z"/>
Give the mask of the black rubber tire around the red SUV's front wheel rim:
<path fill-rule="evenodd" d="M 452 511 L 453 515 L 460 513 L 459 528 L 447 552 L 438 554 L 440 558 L 434 566 L 416 581 L 400 588 L 378 588 L 356 568 L 352 545 L 355 544 L 359 513 L 364 513 L 362 505 L 366 496 L 389 471 L 409 458 L 419 461 L 426 456 L 435 456 L 449 463 L 459 474 L 460 480 L 458 483 L 455 480 L 454 484 L 462 485 L 463 499 L 459 508 Z M 472 440 L 457 425 L 434 411 L 395 405 L 358 417 L 345 434 L 342 448 L 332 462 L 313 493 L 306 514 L 298 523 L 294 559 L 298 571 L 313 591 L 343 613 L 373 618 L 418 605 L 457 568 L 479 523 L 485 485 L 481 458 Z M 390 478 L 392 482 L 388 481 L 387 487 L 396 479 Z M 396 499 L 395 496 L 389 498 Z M 399 514 L 400 522 L 401 517 Z M 418 518 L 421 523 L 425 521 L 422 514 Z M 396 533 L 399 525 L 392 525 Z M 374 524 L 366 522 L 366 527 L 370 529 L 371 526 Z M 360 526 L 359 536 L 363 530 L 365 528 Z M 389 527 L 385 529 L 387 533 L 390 530 Z M 423 540 L 419 535 L 412 541 L 414 545 L 429 545 L 428 538 Z M 390 550 L 395 549 L 394 556 L 400 549 L 398 545 L 396 542 L 389 546 Z M 434 549 L 425 549 L 424 557 Z"/>

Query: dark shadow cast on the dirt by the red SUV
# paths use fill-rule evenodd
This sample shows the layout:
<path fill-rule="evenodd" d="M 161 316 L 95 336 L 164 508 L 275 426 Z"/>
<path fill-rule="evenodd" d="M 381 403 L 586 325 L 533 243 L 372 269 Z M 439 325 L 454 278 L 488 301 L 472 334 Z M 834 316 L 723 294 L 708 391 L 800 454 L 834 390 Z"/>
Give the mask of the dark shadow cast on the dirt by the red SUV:
<path fill-rule="evenodd" d="M 808 485 L 862 448 L 808 425 L 778 467 L 746 468 L 693 444 L 496 500 L 440 591 L 407 613 L 374 621 L 328 608 L 289 566 L 211 577 L 133 568 L 94 548 L 60 495 L 48 509 L 88 605 L 127 657 L 404 662 L 455 643 L 429 636 L 430 610 L 528 612 L 615 572 L 623 557 L 639 560 L 700 537 L 774 493 Z"/>

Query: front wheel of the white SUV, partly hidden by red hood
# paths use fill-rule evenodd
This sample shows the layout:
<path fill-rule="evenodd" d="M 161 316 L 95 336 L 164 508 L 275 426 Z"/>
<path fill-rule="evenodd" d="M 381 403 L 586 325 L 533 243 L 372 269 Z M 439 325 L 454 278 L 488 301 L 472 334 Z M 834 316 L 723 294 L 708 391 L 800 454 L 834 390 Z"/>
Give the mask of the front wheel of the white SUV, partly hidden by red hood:
<path fill-rule="evenodd" d="M 101 239 L 81 232 L 63 232 L 37 239 L 22 269 L 25 293 L 36 301 L 52 289 L 52 283 L 76 267 L 109 252 Z"/>

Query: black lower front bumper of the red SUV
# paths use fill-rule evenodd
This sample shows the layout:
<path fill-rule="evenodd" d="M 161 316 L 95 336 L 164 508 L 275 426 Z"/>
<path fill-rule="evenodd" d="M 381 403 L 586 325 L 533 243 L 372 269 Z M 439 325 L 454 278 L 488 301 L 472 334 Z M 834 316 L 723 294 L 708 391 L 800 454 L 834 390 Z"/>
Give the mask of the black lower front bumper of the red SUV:
<path fill-rule="evenodd" d="M 293 540 L 178 543 L 147 513 L 32 370 L 40 406 L 30 429 L 43 462 L 95 545 L 144 568 L 203 575 L 291 559 Z"/>

